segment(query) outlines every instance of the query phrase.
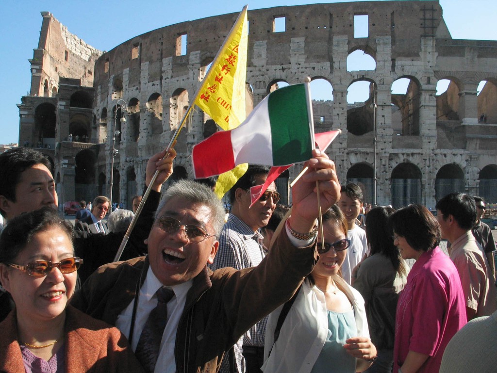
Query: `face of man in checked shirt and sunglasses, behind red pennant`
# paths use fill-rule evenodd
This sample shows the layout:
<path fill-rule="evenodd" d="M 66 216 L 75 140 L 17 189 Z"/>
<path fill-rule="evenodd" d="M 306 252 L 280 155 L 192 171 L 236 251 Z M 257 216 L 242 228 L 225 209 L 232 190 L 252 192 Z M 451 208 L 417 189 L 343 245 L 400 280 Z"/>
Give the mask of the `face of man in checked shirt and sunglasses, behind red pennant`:
<path fill-rule="evenodd" d="M 267 174 L 255 175 L 255 184 L 262 185 L 266 181 Z M 276 192 L 276 186 L 274 182 L 267 188 L 268 191 Z M 276 208 L 276 204 L 272 197 L 265 201 L 256 201 L 252 207 L 250 207 L 250 193 L 242 188 L 236 191 L 236 203 L 238 206 L 235 207 L 233 213 L 240 218 L 245 224 L 255 232 L 257 229 L 267 225 L 271 215 Z"/>

